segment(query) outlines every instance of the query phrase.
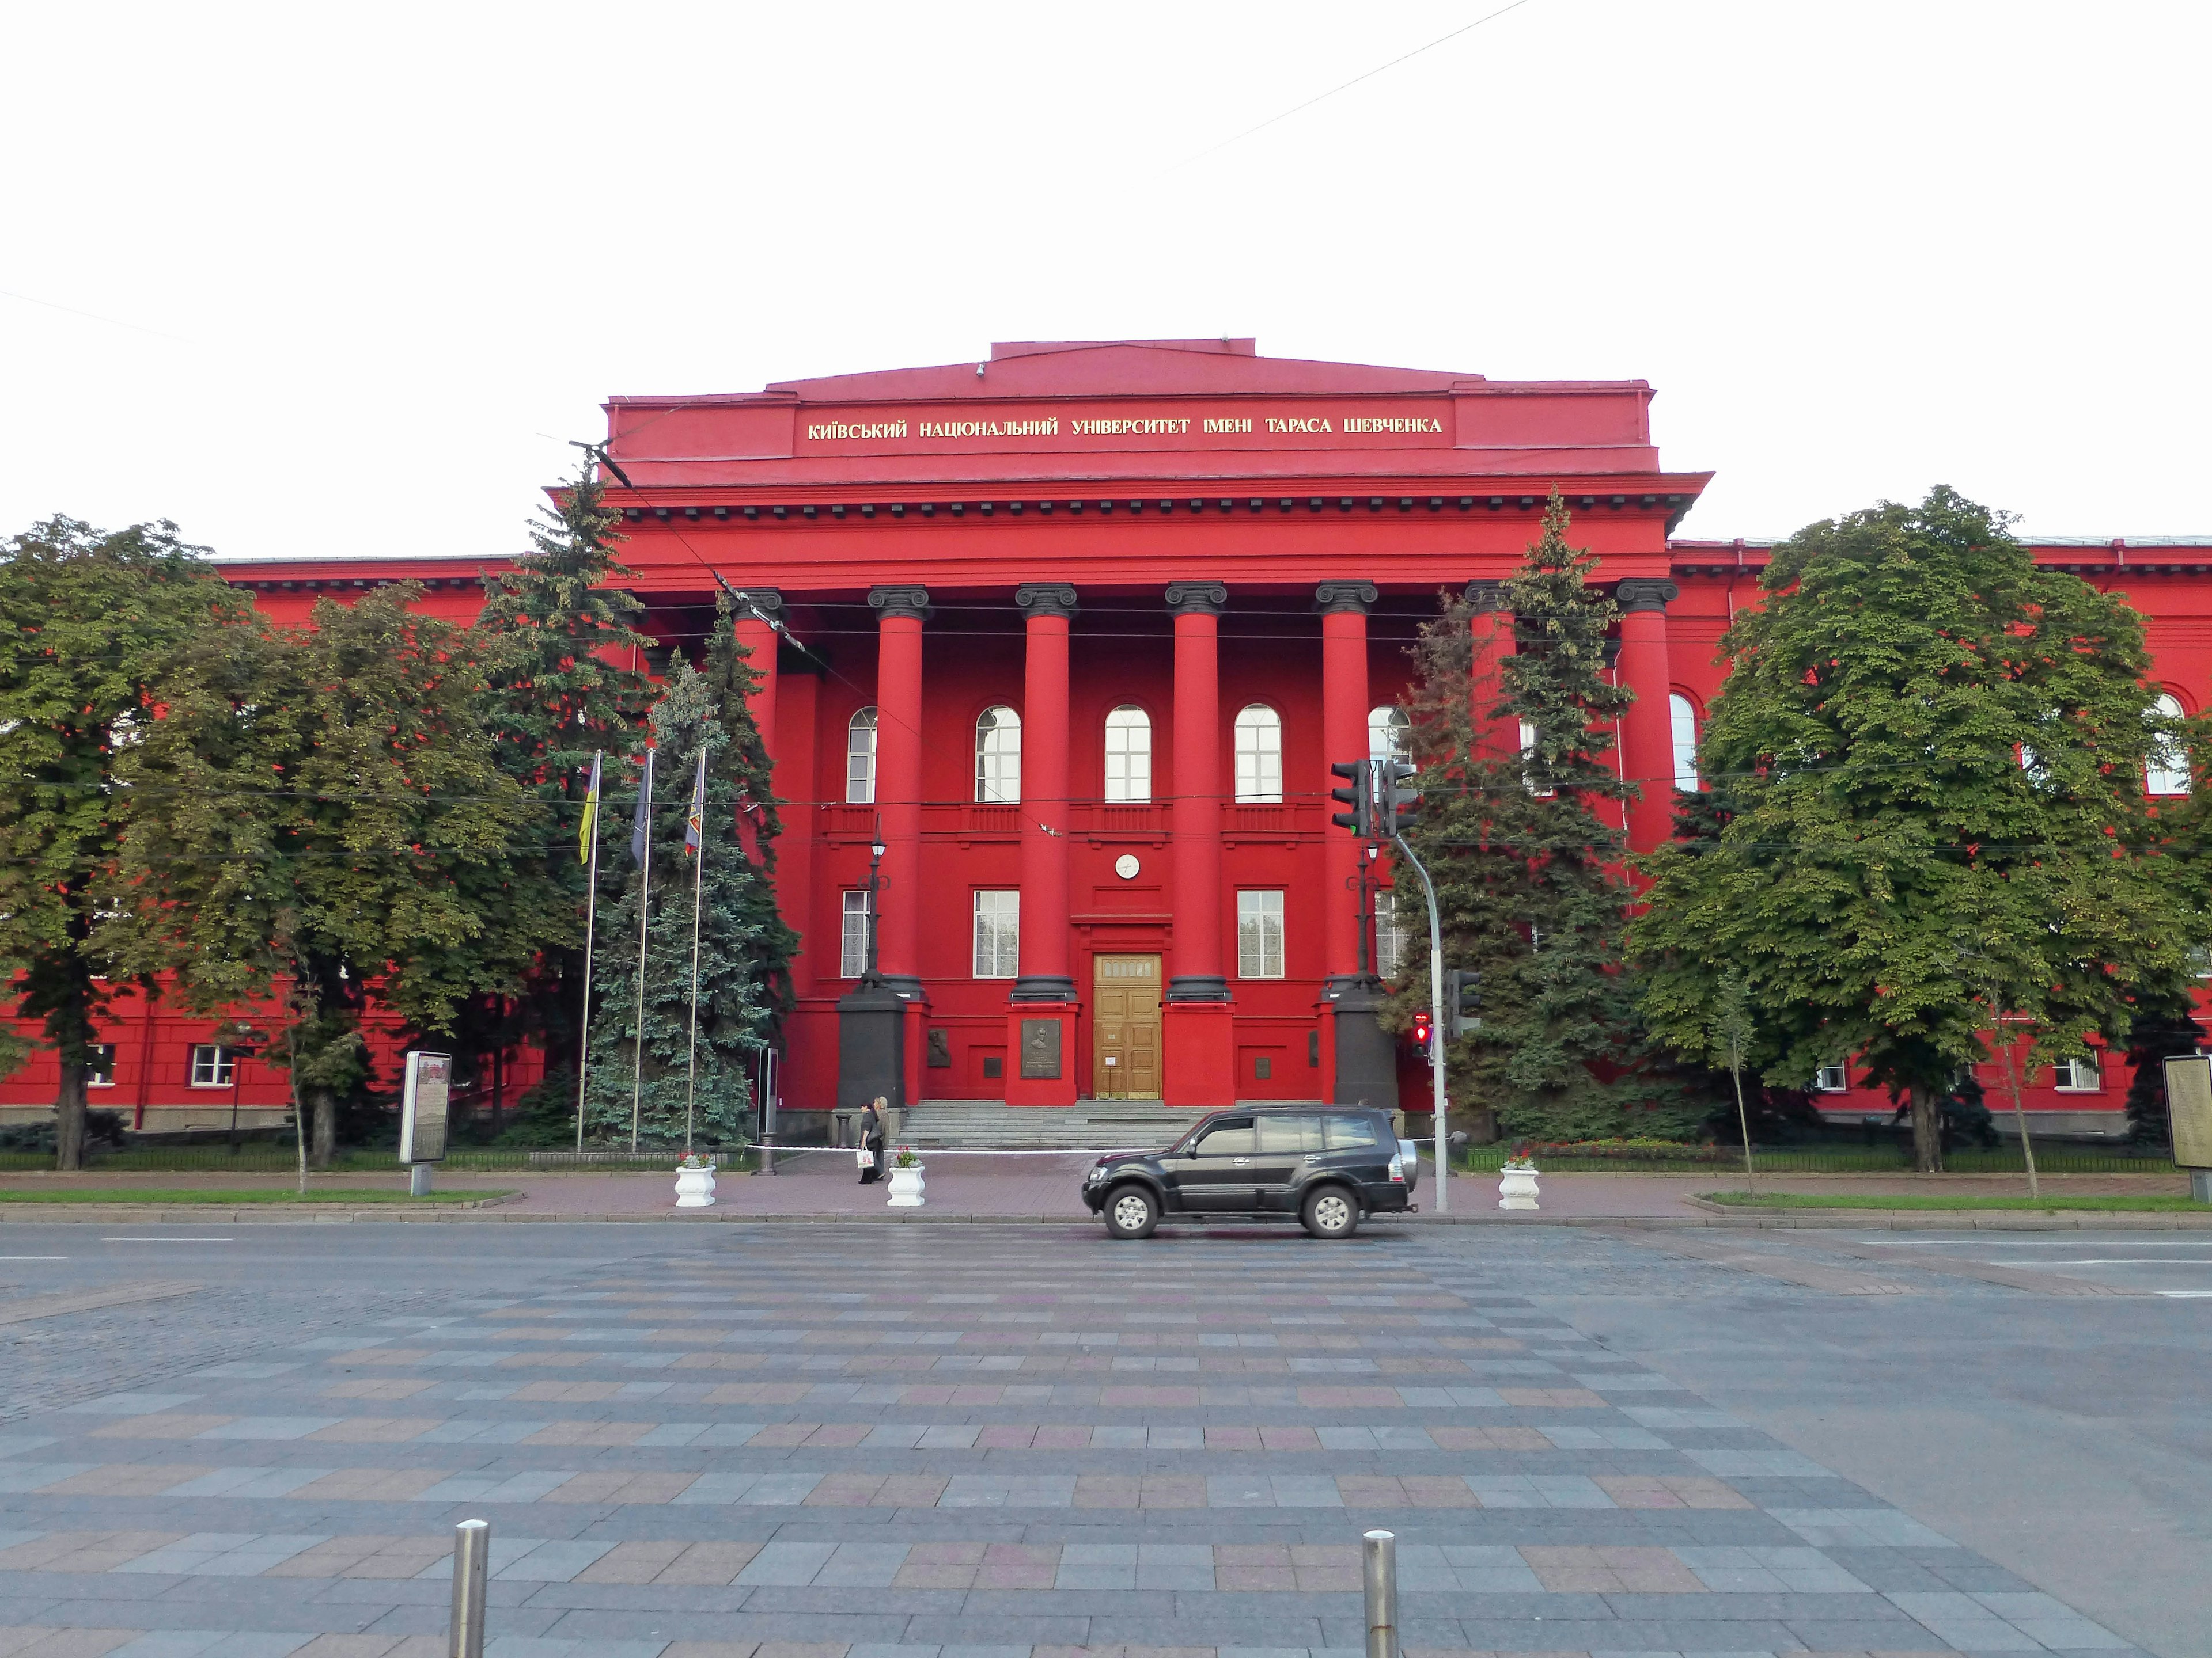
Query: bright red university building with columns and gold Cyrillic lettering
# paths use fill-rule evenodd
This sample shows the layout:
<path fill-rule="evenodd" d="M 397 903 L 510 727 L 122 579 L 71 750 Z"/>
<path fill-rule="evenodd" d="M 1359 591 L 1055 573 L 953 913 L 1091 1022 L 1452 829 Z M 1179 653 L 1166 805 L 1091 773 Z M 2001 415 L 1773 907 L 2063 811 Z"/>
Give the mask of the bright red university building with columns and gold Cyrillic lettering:
<path fill-rule="evenodd" d="M 1425 1072 L 1374 1017 L 1396 940 L 1376 935 L 1367 875 L 1387 869 L 1363 871 L 1329 827 L 1329 765 L 1385 749 L 1438 590 L 1511 573 L 1557 486 L 1624 608 L 1630 842 L 1668 831 L 1717 641 L 1756 601 L 1765 548 L 1670 539 L 1710 473 L 1661 466 L 1650 400 L 1641 380 L 1298 363 L 1252 340 L 998 345 L 984 363 L 615 398 L 608 453 L 630 486 L 611 502 L 648 630 L 699 654 L 717 575 L 752 606 L 739 632 L 794 802 L 785 1110 L 874 1092 L 1383 1099 L 1400 1079 L 1420 1110 Z M 2037 557 L 2124 590 L 2197 712 L 2212 544 Z M 396 577 L 469 617 L 495 564 L 226 570 L 281 619 Z M 210 1026 L 117 1012 L 119 1099 L 159 1119 L 210 1099 L 188 1081 Z M 1887 1114 L 1827 1081 L 1840 1108 Z M 51 1061 L 7 1088 L 49 1103 Z M 2121 1092 L 2081 1068 L 2039 1077 L 2031 1103 L 2079 1130 L 2115 1123 Z M 281 1103 L 281 1079 L 252 1094 Z"/>

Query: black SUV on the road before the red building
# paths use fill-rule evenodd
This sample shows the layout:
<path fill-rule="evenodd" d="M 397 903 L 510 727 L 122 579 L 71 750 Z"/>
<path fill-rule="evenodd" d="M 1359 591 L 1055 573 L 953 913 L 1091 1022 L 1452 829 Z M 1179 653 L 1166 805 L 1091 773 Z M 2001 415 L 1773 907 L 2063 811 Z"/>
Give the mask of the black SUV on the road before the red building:
<path fill-rule="evenodd" d="M 1084 1203 L 1115 1238 L 1150 1238 L 1161 1216 L 1296 1216 L 1316 1238 L 1349 1238 L 1369 1214 L 1411 1209 L 1418 1178 L 1389 1112 L 1241 1105 L 1166 1152 L 1102 1156 L 1084 1176 Z"/>

